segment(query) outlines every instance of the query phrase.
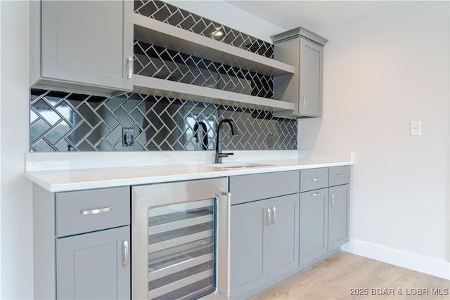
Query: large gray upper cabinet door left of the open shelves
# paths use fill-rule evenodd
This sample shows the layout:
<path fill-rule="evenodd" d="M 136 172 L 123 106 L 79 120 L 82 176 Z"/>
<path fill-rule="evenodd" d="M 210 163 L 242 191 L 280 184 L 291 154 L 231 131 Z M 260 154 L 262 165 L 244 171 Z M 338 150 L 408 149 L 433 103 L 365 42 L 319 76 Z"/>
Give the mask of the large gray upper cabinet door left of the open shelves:
<path fill-rule="evenodd" d="M 133 1 L 42 1 L 41 76 L 132 89 Z"/>

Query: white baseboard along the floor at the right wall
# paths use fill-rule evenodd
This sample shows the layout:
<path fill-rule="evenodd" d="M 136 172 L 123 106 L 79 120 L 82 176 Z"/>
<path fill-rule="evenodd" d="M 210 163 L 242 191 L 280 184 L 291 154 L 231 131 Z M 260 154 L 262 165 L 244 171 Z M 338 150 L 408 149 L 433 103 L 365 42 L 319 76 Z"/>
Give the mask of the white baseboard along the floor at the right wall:
<path fill-rule="evenodd" d="M 450 280 L 450 263 L 448 261 L 432 259 L 360 240 L 350 240 L 341 247 L 341 250 Z"/>

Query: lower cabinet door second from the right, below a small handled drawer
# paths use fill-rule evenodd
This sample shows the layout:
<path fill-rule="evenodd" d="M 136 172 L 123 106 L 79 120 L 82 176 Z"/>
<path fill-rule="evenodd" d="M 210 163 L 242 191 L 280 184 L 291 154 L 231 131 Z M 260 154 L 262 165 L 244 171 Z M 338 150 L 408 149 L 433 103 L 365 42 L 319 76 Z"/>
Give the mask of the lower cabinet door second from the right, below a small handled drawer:
<path fill-rule="evenodd" d="M 328 188 L 300 193 L 300 266 L 328 251 Z"/>

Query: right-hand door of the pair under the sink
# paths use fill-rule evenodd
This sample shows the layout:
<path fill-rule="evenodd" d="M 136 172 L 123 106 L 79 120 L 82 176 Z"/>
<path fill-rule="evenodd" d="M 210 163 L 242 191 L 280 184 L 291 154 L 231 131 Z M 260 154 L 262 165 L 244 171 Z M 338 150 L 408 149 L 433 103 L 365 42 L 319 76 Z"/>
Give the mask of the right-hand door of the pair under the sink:
<path fill-rule="evenodd" d="M 298 267 L 299 194 L 270 200 L 269 280 Z"/>

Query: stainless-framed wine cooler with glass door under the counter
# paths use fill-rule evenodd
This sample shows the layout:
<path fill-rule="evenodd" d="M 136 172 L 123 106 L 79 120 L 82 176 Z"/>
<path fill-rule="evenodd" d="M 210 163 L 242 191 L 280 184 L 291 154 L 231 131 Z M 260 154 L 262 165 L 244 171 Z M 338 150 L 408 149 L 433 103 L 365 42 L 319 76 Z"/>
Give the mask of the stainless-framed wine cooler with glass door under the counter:
<path fill-rule="evenodd" d="M 219 197 L 211 183 L 226 188 L 222 178 L 134 187 L 133 299 L 198 299 L 216 290 Z"/>

